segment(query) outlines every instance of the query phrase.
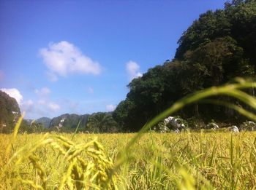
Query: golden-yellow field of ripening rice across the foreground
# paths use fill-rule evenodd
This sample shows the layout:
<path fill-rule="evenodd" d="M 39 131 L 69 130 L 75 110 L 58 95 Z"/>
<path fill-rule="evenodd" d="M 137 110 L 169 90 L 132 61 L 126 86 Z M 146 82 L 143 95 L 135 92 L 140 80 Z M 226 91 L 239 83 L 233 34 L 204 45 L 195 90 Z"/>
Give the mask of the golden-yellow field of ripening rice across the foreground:
<path fill-rule="evenodd" d="M 255 189 L 256 132 L 0 135 L 0 189 Z"/>

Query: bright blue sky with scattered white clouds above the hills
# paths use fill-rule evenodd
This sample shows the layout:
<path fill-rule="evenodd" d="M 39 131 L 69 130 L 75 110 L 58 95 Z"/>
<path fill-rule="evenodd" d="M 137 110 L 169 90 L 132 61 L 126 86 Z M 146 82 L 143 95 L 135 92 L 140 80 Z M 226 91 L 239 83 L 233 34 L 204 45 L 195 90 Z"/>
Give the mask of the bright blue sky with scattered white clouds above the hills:
<path fill-rule="evenodd" d="M 0 1 L 0 90 L 26 119 L 113 111 L 222 0 Z"/>

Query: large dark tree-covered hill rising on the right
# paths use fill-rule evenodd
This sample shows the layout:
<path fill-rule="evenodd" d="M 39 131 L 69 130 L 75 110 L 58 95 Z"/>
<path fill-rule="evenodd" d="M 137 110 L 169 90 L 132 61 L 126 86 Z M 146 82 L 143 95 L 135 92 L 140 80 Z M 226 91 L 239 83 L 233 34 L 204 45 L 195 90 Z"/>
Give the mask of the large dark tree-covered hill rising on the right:
<path fill-rule="evenodd" d="M 113 113 L 125 130 L 137 131 L 179 98 L 230 82 L 236 76 L 256 75 L 256 1 L 236 0 L 224 9 L 199 16 L 178 40 L 176 56 L 128 84 L 127 98 Z M 233 121 L 239 117 L 219 106 L 195 105 L 181 116 Z"/>

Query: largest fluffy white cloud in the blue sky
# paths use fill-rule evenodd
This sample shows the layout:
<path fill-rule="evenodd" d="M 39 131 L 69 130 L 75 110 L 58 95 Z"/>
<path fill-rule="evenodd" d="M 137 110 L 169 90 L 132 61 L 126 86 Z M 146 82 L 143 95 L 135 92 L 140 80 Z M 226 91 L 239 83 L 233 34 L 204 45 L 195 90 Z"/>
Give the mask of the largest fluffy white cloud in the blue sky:
<path fill-rule="evenodd" d="M 40 55 L 48 67 L 48 77 L 56 81 L 57 76 L 68 74 L 100 74 L 101 66 L 68 41 L 51 43 L 48 48 L 39 50 Z"/>

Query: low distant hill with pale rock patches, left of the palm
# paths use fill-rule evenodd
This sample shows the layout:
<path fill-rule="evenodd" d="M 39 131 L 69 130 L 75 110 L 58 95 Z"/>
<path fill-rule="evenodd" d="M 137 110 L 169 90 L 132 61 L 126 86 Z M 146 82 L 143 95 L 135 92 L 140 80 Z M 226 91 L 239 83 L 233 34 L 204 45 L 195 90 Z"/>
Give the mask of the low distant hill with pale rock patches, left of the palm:
<path fill-rule="evenodd" d="M 51 119 L 49 128 L 56 127 L 61 131 L 74 130 L 80 121 L 80 129 L 86 127 L 89 114 L 78 115 L 78 114 L 63 114 L 61 116 L 54 117 Z"/>

